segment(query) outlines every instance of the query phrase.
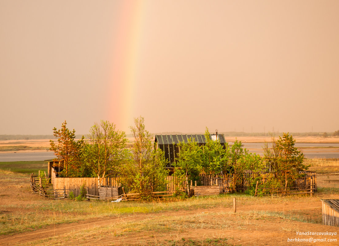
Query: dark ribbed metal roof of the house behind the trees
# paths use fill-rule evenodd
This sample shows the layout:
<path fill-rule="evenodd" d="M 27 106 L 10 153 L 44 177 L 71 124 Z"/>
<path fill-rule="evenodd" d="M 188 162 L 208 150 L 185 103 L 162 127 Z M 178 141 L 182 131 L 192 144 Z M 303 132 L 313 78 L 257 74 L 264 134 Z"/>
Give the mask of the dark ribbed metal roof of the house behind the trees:
<path fill-rule="evenodd" d="M 214 137 L 212 137 L 214 136 Z M 215 134 L 210 134 L 210 139 L 215 138 Z M 179 142 L 187 143 L 187 139 L 198 142 L 198 144 L 206 144 L 206 138 L 204 134 L 190 134 L 190 135 L 155 135 L 155 142 L 159 145 L 163 144 L 178 144 Z M 218 134 L 218 140 L 221 144 L 226 143 L 224 134 Z"/>

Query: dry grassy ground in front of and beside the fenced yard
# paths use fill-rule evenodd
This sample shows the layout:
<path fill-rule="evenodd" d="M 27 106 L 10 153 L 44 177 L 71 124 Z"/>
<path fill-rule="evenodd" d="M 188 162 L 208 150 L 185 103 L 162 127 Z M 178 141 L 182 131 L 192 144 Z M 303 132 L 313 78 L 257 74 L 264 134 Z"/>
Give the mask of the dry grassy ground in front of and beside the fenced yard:
<path fill-rule="evenodd" d="M 337 231 L 321 224 L 320 198 L 338 198 L 339 166 L 315 163 L 313 197 L 221 194 L 146 203 L 48 200 L 28 183 L 43 162 L 0 163 L 0 245 L 290 245 L 296 231 Z"/>

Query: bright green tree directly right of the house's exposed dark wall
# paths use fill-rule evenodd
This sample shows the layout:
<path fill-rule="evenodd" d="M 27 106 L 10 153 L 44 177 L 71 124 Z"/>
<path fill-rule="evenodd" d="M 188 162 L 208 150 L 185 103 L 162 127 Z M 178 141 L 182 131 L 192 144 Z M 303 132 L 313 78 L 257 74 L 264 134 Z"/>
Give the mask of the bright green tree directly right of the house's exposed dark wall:
<path fill-rule="evenodd" d="M 187 193 L 190 192 L 188 179 L 195 179 L 202 170 L 202 149 L 195 139 L 187 139 L 187 143 L 179 142 L 178 159 L 174 163 L 174 176 L 185 179 Z"/>

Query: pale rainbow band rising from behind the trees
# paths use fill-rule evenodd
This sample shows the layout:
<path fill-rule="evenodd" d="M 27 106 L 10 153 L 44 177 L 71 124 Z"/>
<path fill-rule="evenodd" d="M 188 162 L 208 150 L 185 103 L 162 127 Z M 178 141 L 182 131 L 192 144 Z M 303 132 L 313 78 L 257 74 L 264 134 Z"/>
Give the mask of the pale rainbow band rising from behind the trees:
<path fill-rule="evenodd" d="M 113 33 L 113 62 L 109 76 L 109 120 L 119 130 L 129 133 L 133 118 L 137 117 L 134 105 L 138 86 L 138 67 L 140 64 L 142 25 L 146 2 L 121 1 L 117 29 Z M 115 19 L 115 21 L 117 21 Z"/>

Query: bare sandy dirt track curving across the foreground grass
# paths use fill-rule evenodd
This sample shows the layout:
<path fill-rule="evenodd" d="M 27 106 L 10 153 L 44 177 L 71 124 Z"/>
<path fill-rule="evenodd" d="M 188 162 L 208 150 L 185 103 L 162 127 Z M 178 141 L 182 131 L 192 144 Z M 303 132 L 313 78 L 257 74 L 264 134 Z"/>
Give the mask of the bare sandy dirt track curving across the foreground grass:
<path fill-rule="evenodd" d="M 191 238 L 202 240 L 202 237 L 207 238 L 227 238 L 227 243 L 232 244 L 244 244 L 244 245 L 290 245 L 291 242 L 287 242 L 288 238 L 295 238 L 296 231 L 338 231 L 337 228 L 330 226 L 324 226 L 319 224 L 302 223 L 291 220 L 286 220 L 279 217 L 270 217 L 267 219 L 252 218 L 248 211 L 293 211 L 293 210 L 311 210 L 315 207 L 320 207 L 321 202 L 316 204 L 297 204 L 295 202 L 286 202 L 283 204 L 271 204 L 271 205 L 245 205 L 237 208 L 237 213 L 233 213 L 232 209 L 228 208 L 214 208 L 214 209 L 195 209 L 195 210 L 179 210 L 179 211 L 165 211 L 160 213 L 148 213 L 148 214 L 132 214 L 123 216 L 109 216 L 100 217 L 95 219 L 89 219 L 79 221 L 77 223 L 62 224 L 55 226 L 48 226 L 43 229 L 38 229 L 31 232 L 25 232 L 10 236 L 0 236 L 0 245 L 23 245 L 28 243 L 34 243 L 38 240 L 46 240 L 51 237 L 58 237 L 61 240 L 67 238 L 69 234 L 76 234 L 78 232 L 87 230 L 99 230 L 98 236 L 92 236 L 86 238 L 85 241 L 80 239 L 74 239 L 72 242 L 67 241 L 67 245 L 152 245 L 165 240 L 181 240 L 182 238 Z M 246 213 L 247 212 L 247 213 Z M 320 212 L 320 211 L 319 211 Z M 193 215 L 210 216 L 212 219 L 227 219 L 230 223 L 230 228 L 190 228 L 189 222 Z M 210 214 L 210 215 L 208 215 Z M 190 217 L 191 216 L 191 217 Z M 247 218 L 246 218 L 247 216 Z M 132 223 L 132 222 L 144 222 L 149 220 L 160 221 L 164 218 L 173 218 L 178 220 L 179 224 L 183 220 L 183 225 L 179 226 L 179 230 L 175 233 L 157 232 L 157 231 L 140 231 L 124 233 L 121 236 L 107 233 L 104 236 L 100 236 L 100 229 L 112 227 L 117 223 Z M 213 226 L 212 226 L 213 227 Z M 338 235 L 339 236 L 339 235 Z M 305 238 L 305 236 L 299 236 L 299 238 Z M 315 236 L 314 238 L 321 238 Z M 338 238 L 338 237 L 333 237 Z M 272 241 L 274 239 L 274 241 Z M 80 241 L 79 241 L 80 240 Z M 338 238 L 339 241 L 339 238 Z M 278 243 L 278 244 L 277 244 Z M 299 244 L 300 245 L 300 244 Z M 308 244 L 301 244 L 308 245 Z M 311 245 L 311 244 L 310 244 Z M 317 242 L 317 245 L 330 245 Z M 331 244 L 335 245 L 335 244 Z M 339 245 L 339 243 L 337 244 Z"/>

